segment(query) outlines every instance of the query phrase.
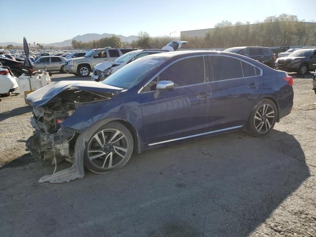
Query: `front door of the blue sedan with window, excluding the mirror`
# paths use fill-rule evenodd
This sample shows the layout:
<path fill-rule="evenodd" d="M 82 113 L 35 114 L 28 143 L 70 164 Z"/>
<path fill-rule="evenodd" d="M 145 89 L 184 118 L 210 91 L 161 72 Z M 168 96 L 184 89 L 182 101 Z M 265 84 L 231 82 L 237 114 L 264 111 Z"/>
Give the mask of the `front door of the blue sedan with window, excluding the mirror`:
<path fill-rule="evenodd" d="M 211 94 L 203 56 L 171 63 L 140 93 L 142 116 L 149 145 L 208 131 Z M 155 98 L 161 80 L 174 82 L 173 91 Z"/>

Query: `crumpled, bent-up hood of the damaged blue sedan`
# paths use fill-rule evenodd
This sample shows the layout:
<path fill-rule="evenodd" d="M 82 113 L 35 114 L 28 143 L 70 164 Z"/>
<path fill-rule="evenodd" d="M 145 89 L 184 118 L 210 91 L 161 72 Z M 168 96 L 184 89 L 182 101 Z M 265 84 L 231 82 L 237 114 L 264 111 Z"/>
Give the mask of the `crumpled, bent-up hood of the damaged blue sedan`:
<path fill-rule="evenodd" d="M 44 87 L 41 87 L 40 89 L 28 94 L 26 100 L 31 106 L 43 106 L 47 104 L 52 98 L 67 89 L 77 89 L 96 93 L 109 93 L 109 95 L 118 94 L 122 90 L 122 88 L 95 81 L 64 80 L 52 82 Z"/>

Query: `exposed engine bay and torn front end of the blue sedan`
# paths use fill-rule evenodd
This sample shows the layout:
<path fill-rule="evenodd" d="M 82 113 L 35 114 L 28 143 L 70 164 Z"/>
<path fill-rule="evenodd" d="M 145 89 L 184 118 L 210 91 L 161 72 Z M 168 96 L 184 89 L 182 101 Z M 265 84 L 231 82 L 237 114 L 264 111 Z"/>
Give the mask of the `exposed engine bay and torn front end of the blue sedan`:
<path fill-rule="evenodd" d="M 62 122 L 71 117 L 78 106 L 109 100 L 113 95 L 113 93 L 108 92 L 68 88 L 52 97 L 43 106 L 36 106 L 31 103 L 33 111 L 31 125 L 35 131 L 26 143 L 27 150 L 33 156 L 43 158 L 55 165 L 53 174 L 59 162 L 67 160 L 75 163 L 75 144 L 79 131 L 62 126 Z M 45 181 L 52 182 L 51 180 L 43 180 L 42 182 Z"/>

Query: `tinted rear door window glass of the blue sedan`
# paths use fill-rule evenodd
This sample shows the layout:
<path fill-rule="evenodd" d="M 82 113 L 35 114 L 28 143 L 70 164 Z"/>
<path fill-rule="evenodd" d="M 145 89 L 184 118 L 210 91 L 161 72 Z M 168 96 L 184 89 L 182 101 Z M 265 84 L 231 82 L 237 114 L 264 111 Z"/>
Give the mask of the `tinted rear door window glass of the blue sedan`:
<path fill-rule="evenodd" d="M 214 81 L 242 78 L 240 60 L 225 56 L 211 56 Z"/>

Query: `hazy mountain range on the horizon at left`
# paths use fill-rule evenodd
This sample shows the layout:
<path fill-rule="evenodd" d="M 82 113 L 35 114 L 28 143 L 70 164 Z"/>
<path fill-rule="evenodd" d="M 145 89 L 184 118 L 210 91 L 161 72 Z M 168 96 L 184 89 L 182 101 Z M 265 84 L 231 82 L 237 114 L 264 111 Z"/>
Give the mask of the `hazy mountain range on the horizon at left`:
<path fill-rule="evenodd" d="M 71 46 L 72 40 L 77 40 L 77 41 L 82 41 L 82 42 L 88 42 L 91 40 L 100 40 L 101 38 L 107 38 L 107 37 L 112 37 L 112 36 L 117 36 L 122 42 L 131 42 L 132 40 L 137 40 L 137 36 L 122 36 L 122 35 L 115 35 L 115 34 L 84 34 L 82 36 L 78 35 L 70 40 L 64 40 L 62 42 L 56 42 L 56 43 L 40 43 L 43 46 L 49 47 L 49 46 L 55 46 L 55 47 L 65 47 L 65 46 Z M 29 42 L 33 44 L 33 42 Z M 12 44 L 13 46 L 23 46 L 23 43 L 16 43 L 16 42 L 0 42 L 0 46 L 6 46 L 8 44 Z"/>

